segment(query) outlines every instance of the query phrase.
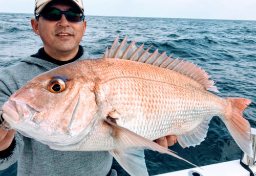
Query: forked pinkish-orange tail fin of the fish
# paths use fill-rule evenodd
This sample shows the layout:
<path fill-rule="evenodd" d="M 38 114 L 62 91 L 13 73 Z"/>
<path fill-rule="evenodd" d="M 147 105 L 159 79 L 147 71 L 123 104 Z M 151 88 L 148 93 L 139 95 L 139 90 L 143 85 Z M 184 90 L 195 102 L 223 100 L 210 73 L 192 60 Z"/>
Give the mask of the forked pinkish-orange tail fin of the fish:
<path fill-rule="evenodd" d="M 253 157 L 250 123 L 243 118 L 243 112 L 251 104 L 249 99 L 225 97 L 228 102 L 227 112 L 221 117 L 229 133 L 238 146 L 248 156 Z"/>

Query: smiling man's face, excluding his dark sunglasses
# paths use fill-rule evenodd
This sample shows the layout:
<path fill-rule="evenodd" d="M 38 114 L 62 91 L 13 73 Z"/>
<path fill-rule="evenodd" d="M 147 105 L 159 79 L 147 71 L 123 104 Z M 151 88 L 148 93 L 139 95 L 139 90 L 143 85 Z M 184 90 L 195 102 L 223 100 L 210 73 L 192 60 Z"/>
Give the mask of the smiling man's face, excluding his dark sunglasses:
<path fill-rule="evenodd" d="M 55 8 L 61 11 L 76 10 L 69 4 L 52 3 L 46 8 Z M 78 45 L 86 32 L 86 22 L 70 22 L 63 14 L 59 21 L 50 21 L 39 17 L 38 30 L 34 32 L 39 35 L 44 43 L 45 51 L 48 53 L 65 53 L 78 51 Z M 55 58 L 57 59 L 57 58 Z"/>

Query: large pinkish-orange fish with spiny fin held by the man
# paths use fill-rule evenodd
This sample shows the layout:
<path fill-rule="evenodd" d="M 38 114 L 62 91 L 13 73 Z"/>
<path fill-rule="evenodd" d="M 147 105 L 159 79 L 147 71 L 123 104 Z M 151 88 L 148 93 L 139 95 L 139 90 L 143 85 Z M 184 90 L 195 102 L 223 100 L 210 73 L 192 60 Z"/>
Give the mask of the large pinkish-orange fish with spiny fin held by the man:
<path fill-rule="evenodd" d="M 117 38 L 102 59 L 31 80 L 4 104 L 4 118 L 53 149 L 108 150 L 131 175 L 148 175 L 141 149 L 178 157 L 153 140 L 175 135 L 182 147 L 199 145 L 216 115 L 252 156 L 250 124 L 242 115 L 251 101 L 209 92 L 218 92 L 209 78 L 193 63 Z"/>

